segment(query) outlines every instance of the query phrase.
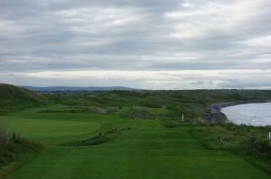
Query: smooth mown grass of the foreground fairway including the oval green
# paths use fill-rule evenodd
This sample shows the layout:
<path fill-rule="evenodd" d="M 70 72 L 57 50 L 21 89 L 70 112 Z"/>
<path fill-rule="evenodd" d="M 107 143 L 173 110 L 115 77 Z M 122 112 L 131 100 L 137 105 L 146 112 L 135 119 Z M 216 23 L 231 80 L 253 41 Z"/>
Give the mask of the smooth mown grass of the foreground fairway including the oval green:
<path fill-rule="evenodd" d="M 164 128 L 162 121 L 127 120 L 117 115 L 36 113 L 33 110 L 0 116 L 0 121 L 23 136 L 35 134 L 50 148 L 11 175 L 14 179 L 36 178 L 270 178 L 243 158 L 227 151 L 207 150 L 190 135 L 192 126 Z M 35 131 L 41 121 L 80 129 L 51 127 Z M 16 125 L 19 122 L 20 125 Z M 97 128 L 99 124 L 99 129 Z M 21 126 L 23 128 L 21 128 Z M 50 126 L 50 125 L 49 125 Z M 70 125 L 68 125 L 70 126 Z M 95 130 L 131 127 L 117 139 L 97 146 L 67 147 L 62 142 L 87 139 Z M 46 129 L 48 131 L 46 131 Z M 57 138 L 48 132 L 57 134 Z M 74 131 L 74 132 L 73 132 Z M 42 175 L 41 175 L 42 174 Z"/>

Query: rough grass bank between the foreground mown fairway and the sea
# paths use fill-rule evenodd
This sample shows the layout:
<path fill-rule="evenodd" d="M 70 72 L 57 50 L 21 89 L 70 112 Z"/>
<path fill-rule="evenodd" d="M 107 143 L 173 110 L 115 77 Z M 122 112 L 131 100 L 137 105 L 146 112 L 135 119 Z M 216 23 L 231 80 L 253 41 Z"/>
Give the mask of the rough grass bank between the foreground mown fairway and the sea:
<path fill-rule="evenodd" d="M 200 139 L 205 148 L 232 151 L 271 174 L 271 141 L 267 139 L 270 130 L 229 123 L 201 126 L 192 130 L 192 136 Z"/>

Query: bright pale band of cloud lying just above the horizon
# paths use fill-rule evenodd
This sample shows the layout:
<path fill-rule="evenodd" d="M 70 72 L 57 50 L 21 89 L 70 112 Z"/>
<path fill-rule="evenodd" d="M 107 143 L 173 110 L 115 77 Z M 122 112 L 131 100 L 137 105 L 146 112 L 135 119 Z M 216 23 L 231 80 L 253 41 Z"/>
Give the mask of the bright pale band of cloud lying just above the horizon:
<path fill-rule="evenodd" d="M 195 88 L 271 88 L 271 70 L 177 70 L 177 71 L 42 71 L 31 73 L 5 73 L 5 79 L 32 79 L 18 85 L 126 85 L 145 89 L 195 89 Z M 264 81 L 258 79 L 265 78 Z M 10 81 L 8 81 L 10 82 Z M 112 83 L 113 82 L 113 83 Z M 18 82 L 17 82 L 18 83 Z"/>

